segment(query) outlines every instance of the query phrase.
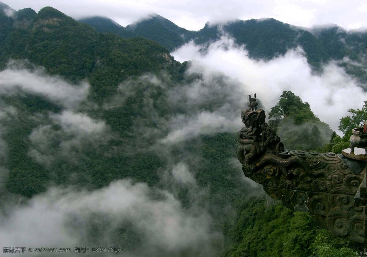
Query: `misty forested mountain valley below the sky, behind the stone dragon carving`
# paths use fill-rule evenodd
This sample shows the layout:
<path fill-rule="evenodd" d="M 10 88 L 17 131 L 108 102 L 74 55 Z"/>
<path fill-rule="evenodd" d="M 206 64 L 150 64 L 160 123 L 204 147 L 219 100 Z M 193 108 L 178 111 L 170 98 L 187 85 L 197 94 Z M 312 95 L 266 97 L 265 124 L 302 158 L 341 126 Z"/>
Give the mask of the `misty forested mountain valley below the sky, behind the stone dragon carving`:
<path fill-rule="evenodd" d="M 188 31 L 159 15 L 123 27 L 52 7 L 0 9 L 4 246 L 116 246 L 121 256 L 361 249 L 267 197 L 235 149 L 254 93 L 286 148 L 348 147 L 367 118 L 366 31 L 275 19 Z"/>

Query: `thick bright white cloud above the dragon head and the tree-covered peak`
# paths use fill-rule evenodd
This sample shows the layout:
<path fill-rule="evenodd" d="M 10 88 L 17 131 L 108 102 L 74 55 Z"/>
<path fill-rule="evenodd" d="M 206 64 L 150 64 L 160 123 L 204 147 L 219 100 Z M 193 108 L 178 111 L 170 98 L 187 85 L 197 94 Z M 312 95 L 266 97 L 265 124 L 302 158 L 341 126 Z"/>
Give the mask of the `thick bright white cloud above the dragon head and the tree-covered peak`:
<path fill-rule="evenodd" d="M 307 101 L 321 121 L 335 131 L 338 131 L 339 119 L 348 115 L 348 109 L 360 108 L 367 99 L 359 82 L 333 61 L 324 65 L 322 74 L 314 74 L 300 48 L 270 61 L 252 60 L 244 46 L 222 36 L 204 53 L 200 49 L 201 46 L 189 42 L 172 55 L 178 61 L 192 60 L 189 73 L 199 70 L 205 77 L 221 72 L 238 80 L 241 89 L 236 94 L 242 92 L 246 99 L 248 94 L 257 93 L 265 110 L 275 106 L 283 91 L 291 90 Z M 348 96 L 353 96 L 353 101 Z"/>

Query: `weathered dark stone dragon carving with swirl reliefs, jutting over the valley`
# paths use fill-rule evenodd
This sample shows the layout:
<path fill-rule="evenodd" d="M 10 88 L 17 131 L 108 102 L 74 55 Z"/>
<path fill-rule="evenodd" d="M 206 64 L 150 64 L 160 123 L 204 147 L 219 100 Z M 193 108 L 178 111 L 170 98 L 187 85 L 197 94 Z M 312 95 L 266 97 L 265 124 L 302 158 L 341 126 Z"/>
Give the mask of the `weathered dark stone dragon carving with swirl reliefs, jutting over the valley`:
<path fill-rule="evenodd" d="M 331 152 L 284 150 L 262 109 L 242 110 L 241 118 L 237 158 L 244 175 L 288 208 L 310 212 L 333 235 L 363 243 L 364 207 L 354 206 L 354 198 L 364 169 Z"/>

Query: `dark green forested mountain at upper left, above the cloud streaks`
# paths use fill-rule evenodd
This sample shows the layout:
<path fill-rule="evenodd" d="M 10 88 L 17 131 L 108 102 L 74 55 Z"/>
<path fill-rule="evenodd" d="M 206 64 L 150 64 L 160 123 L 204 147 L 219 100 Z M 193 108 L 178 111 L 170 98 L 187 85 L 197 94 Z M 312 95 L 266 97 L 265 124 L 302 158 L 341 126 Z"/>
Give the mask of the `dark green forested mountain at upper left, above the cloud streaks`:
<path fill-rule="evenodd" d="M 158 43 L 140 37 L 124 39 L 112 33 L 98 33 L 52 7 L 45 7 L 36 15 L 23 9 L 16 17 L 16 22 L 12 18 L 8 21 L 11 27 L 4 28 L 1 34 L 4 39 L 0 67 L 5 67 L 10 58 L 28 59 L 43 65 L 51 74 L 66 76 L 74 82 L 88 77 L 100 99 L 128 76 L 165 68 L 173 71 L 172 67 L 178 65 Z M 13 23 L 21 24 L 21 28 L 14 28 Z"/>

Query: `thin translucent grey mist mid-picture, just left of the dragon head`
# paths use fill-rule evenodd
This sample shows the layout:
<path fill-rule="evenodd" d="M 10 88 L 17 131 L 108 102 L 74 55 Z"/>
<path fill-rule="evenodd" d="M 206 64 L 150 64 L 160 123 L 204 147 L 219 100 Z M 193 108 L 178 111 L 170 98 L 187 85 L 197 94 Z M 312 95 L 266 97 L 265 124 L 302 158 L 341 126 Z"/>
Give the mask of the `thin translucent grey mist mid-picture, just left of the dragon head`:
<path fill-rule="evenodd" d="M 139 137 L 158 139 L 166 145 L 200 135 L 236 132 L 242 126 L 240 110 L 247 103 L 243 95 L 251 92 L 245 93 L 245 86 L 237 78 L 207 71 L 204 64 L 193 63 L 182 82 L 173 82 L 164 73 L 128 79 L 120 84 L 117 94 L 104 108 L 123 107 L 129 97 L 142 97 L 143 108 L 154 127 L 147 126 L 146 119 L 137 117 L 134 131 Z M 157 107 L 164 106 L 172 111 L 162 117 Z"/>

